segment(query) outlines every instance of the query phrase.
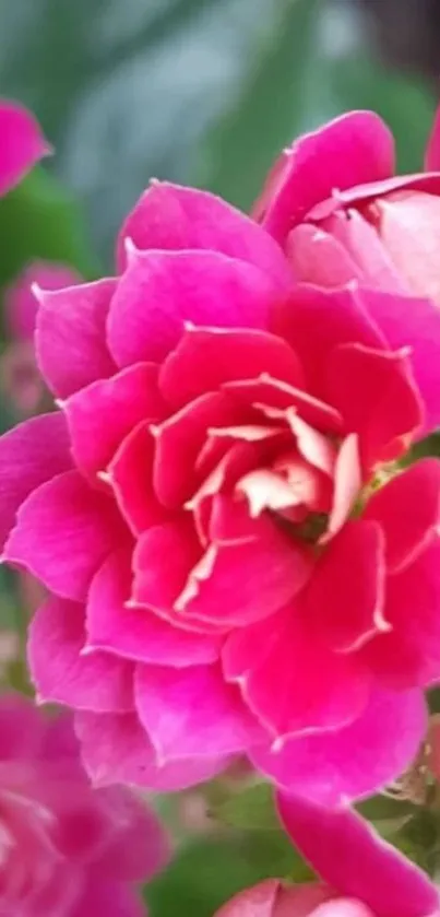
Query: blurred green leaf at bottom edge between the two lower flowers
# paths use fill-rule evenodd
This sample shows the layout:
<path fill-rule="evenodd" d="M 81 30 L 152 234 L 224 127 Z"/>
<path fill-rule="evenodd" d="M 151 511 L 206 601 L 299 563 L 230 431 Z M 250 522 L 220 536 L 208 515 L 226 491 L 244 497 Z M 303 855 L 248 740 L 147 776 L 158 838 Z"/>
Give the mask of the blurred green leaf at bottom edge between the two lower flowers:
<path fill-rule="evenodd" d="M 281 832 L 201 837 L 147 886 L 150 917 L 213 917 L 241 889 L 286 875 L 304 881 L 311 873 Z"/>

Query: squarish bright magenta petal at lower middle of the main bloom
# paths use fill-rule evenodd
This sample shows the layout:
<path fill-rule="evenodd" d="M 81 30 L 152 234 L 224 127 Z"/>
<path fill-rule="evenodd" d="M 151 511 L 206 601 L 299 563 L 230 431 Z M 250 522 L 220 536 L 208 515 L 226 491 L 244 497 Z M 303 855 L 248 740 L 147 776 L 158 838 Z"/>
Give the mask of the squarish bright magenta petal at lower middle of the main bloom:
<path fill-rule="evenodd" d="M 158 764 L 245 752 L 264 736 L 219 666 L 139 665 L 135 704 Z"/>

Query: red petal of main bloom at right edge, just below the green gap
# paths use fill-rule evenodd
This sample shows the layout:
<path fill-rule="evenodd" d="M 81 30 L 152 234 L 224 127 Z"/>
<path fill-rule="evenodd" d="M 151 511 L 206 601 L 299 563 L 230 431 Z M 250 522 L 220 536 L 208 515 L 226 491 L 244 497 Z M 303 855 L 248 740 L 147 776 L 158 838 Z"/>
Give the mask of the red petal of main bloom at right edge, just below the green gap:
<path fill-rule="evenodd" d="M 413 563 L 439 532 L 440 461 L 425 458 L 397 474 L 372 494 L 364 518 L 380 522 L 390 573 Z"/>

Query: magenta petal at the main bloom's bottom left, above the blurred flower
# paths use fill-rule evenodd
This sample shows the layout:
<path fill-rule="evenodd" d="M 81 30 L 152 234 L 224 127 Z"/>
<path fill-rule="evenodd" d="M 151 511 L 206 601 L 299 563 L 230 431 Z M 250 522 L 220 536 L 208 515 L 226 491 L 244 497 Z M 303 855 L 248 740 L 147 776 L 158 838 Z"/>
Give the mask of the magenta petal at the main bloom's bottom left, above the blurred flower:
<path fill-rule="evenodd" d="M 194 757 L 157 765 L 156 754 L 134 714 L 75 716 L 84 765 L 96 786 L 133 784 L 169 792 L 209 780 L 229 759 Z"/>

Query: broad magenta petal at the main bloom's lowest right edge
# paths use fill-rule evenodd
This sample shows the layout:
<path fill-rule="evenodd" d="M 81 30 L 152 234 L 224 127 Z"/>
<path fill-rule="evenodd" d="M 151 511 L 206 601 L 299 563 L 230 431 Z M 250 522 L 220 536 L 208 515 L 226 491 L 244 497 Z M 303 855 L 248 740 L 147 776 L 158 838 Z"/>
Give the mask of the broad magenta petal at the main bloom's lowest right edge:
<path fill-rule="evenodd" d="M 253 764 L 280 787 L 334 808 L 392 783 L 417 754 L 427 729 L 421 691 L 376 691 L 364 713 L 335 732 L 252 751 Z"/>

